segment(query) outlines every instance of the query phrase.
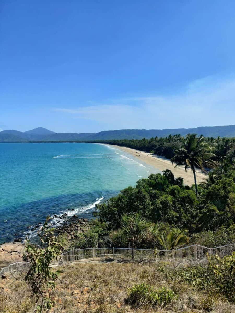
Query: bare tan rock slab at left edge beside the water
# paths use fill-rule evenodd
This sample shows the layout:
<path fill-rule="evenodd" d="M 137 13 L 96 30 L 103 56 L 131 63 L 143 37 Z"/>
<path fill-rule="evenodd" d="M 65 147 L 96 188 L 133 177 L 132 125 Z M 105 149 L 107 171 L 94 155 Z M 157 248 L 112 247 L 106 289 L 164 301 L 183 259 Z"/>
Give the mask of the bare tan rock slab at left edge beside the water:
<path fill-rule="evenodd" d="M 8 242 L 0 245 L 0 266 L 8 266 L 11 263 L 22 262 L 24 244 L 20 242 Z"/>

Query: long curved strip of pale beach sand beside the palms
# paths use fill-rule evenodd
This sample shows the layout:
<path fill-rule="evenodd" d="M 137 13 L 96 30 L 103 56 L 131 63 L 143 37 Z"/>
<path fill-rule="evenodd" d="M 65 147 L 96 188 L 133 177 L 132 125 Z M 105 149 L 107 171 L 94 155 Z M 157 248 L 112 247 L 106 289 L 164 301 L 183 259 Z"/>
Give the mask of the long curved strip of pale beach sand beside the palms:
<path fill-rule="evenodd" d="M 170 170 L 175 178 L 177 177 L 182 177 L 184 179 L 184 185 L 191 186 L 194 184 L 194 177 L 193 177 L 193 172 L 189 169 L 188 172 L 185 172 L 184 167 L 176 167 L 175 165 L 172 165 L 170 160 L 163 157 L 163 156 L 156 156 L 153 155 L 152 153 L 144 152 L 144 151 L 139 151 L 127 147 L 121 147 L 121 146 L 116 146 L 116 145 L 108 145 L 107 146 L 112 146 L 116 147 L 119 150 L 122 150 L 124 152 L 127 152 L 137 158 L 139 158 L 141 161 L 145 162 L 146 164 L 152 165 L 153 167 L 159 169 L 160 171 L 164 171 L 166 169 Z M 197 172 L 196 173 L 196 180 L 197 183 L 201 183 L 205 180 L 206 175 Z"/>

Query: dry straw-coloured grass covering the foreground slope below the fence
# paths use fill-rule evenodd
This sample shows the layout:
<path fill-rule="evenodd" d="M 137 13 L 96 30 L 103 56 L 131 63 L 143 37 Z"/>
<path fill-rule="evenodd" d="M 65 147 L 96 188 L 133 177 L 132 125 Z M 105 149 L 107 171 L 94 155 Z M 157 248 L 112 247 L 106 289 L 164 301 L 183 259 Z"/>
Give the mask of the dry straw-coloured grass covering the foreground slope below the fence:
<path fill-rule="evenodd" d="M 55 290 L 50 291 L 54 313 L 235 312 L 235 305 L 218 296 L 199 292 L 176 279 L 166 280 L 154 264 L 76 264 L 60 269 L 63 273 Z M 125 301 L 128 288 L 142 282 L 172 288 L 178 299 L 165 307 L 131 307 Z M 35 299 L 24 281 L 7 277 L 1 280 L 0 288 L 0 313 L 34 312 Z"/>

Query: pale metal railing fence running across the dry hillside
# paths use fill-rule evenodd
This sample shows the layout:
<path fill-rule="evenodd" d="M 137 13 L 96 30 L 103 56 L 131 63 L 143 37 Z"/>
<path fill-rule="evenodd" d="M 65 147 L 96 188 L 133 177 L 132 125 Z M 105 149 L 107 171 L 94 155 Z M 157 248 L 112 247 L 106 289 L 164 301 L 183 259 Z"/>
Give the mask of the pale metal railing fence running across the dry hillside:
<path fill-rule="evenodd" d="M 156 250 L 156 249 L 129 249 L 129 248 L 87 248 L 73 249 L 60 255 L 59 258 L 51 262 L 51 266 L 59 266 L 75 261 L 111 259 L 118 261 L 136 262 L 157 262 L 159 260 L 190 262 L 207 261 L 207 255 L 219 255 L 223 257 L 235 251 L 235 243 L 221 247 L 208 248 L 198 244 L 183 247 L 176 250 Z M 30 265 L 27 262 L 17 262 L 4 267 L 0 275 L 23 271 Z"/>

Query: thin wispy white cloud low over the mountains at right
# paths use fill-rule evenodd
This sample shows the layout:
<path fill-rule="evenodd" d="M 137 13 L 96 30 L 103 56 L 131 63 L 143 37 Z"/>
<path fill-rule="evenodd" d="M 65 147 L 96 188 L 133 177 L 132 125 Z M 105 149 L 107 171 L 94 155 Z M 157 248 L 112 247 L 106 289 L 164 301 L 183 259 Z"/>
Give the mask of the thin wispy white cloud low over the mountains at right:
<path fill-rule="evenodd" d="M 130 97 L 78 108 L 57 108 L 107 129 L 181 128 L 234 124 L 235 79 L 207 77 L 175 95 Z"/>

